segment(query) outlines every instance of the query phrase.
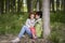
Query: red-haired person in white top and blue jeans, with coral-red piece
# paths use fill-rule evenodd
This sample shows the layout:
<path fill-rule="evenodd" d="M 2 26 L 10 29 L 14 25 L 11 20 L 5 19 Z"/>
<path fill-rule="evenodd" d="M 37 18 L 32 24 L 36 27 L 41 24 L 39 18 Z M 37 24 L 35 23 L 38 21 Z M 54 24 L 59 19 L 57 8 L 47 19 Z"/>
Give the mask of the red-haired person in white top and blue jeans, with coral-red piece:
<path fill-rule="evenodd" d="M 13 43 L 20 42 L 24 33 L 28 33 L 30 37 L 35 38 L 36 37 L 36 31 L 35 31 L 35 14 L 30 13 L 29 18 L 27 18 L 26 24 L 23 26 L 18 37 L 14 40 L 12 40 Z"/>

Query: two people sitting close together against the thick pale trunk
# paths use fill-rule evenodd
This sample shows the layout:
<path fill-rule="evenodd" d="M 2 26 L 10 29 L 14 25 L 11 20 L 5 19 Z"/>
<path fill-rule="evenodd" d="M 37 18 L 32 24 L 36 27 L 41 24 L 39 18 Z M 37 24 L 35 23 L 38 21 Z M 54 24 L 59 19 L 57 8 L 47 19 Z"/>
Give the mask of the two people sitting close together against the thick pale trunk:
<path fill-rule="evenodd" d="M 40 38 L 42 32 L 41 16 L 42 12 L 29 13 L 29 17 L 22 27 L 21 32 L 18 33 L 17 38 L 12 40 L 12 42 L 20 42 L 25 32 L 32 39 Z"/>

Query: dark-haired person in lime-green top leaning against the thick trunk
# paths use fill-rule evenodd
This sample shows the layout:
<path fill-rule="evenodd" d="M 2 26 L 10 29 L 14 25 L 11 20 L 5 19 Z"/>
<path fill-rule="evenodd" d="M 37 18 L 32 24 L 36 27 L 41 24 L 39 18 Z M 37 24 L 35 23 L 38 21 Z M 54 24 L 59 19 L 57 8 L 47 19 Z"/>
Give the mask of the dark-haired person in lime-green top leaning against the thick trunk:
<path fill-rule="evenodd" d="M 42 34 L 42 12 L 36 12 L 36 35 L 37 38 L 41 38 Z"/>

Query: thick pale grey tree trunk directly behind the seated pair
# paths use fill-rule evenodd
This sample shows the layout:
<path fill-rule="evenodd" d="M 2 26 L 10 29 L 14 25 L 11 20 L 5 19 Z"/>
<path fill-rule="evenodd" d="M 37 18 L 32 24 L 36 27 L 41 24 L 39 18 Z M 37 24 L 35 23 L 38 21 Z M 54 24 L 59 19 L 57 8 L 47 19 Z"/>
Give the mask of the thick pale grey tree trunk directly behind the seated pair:
<path fill-rule="evenodd" d="M 50 0 L 42 1 L 42 16 L 43 16 L 43 38 L 48 39 L 50 34 Z"/>

